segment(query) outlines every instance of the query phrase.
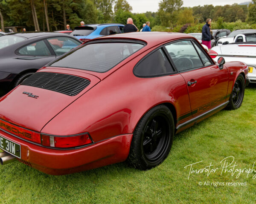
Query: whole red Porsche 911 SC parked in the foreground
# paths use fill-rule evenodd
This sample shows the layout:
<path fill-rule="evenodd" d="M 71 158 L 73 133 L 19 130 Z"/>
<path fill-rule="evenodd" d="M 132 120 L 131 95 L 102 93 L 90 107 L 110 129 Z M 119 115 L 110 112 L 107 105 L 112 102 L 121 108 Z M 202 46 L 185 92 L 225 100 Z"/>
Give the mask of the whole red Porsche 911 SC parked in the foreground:
<path fill-rule="evenodd" d="M 1 164 L 61 175 L 127 160 L 160 164 L 175 133 L 241 106 L 248 67 L 213 61 L 192 36 L 87 41 L 0 98 Z"/>

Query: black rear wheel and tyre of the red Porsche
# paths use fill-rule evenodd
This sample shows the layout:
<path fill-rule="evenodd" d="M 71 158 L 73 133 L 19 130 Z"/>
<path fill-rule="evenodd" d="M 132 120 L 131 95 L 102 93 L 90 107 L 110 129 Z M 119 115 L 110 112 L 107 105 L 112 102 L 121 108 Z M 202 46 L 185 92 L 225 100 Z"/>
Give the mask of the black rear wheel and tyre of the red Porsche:
<path fill-rule="evenodd" d="M 172 112 L 158 105 L 140 119 L 134 130 L 128 163 L 140 170 L 148 170 L 168 156 L 174 137 Z"/>

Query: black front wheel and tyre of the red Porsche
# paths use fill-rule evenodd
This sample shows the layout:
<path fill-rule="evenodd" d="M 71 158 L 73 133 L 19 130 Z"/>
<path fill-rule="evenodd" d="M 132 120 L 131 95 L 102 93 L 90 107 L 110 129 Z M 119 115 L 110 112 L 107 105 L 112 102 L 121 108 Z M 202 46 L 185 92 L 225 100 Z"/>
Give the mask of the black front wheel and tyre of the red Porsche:
<path fill-rule="evenodd" d="M 227 110 L 236 110 L 242 105 L 244 99 L 244 89 L 244 77 L 239 74 L 230 95 L 229 103 L 226 108 Z"/>

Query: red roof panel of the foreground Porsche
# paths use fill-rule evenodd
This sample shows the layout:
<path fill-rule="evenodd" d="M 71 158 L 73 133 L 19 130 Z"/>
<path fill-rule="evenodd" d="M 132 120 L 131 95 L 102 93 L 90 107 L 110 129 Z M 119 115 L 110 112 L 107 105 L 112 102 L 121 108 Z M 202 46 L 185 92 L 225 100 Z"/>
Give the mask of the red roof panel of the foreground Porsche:
<path fill-rule="evenodd" d="M 92 42 L 96 40 L 105 40 L 105 39 L 116 39 L 116 40 L 140 40 L 146 42 L 150 46 L 158 45 L 160 43 L 170 41 L 170 40 L 178 40 L 182 38 L 192 38 L 195 37 L 184 34 L 184 33 L 171 33 L 171 32 L 132 32 L 132 33 L 121 33 L 121 34 L 113 34 L 104 37 L 95 38 L 93 40 L 87 41 Z M 85 42 L 86 43 L 86 42 Z"/>

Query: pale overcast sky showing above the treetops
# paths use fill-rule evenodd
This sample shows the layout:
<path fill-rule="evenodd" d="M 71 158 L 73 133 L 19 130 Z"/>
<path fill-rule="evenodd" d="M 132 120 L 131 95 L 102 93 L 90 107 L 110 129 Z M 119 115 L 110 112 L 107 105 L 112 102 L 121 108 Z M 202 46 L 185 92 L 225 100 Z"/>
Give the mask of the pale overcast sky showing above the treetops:
<path fill-rule="evenodd" d="M 250 0 L 213 0 L 211 3 L 206 3 L 206 0 L 183 0 L 184 7 L 204 6 L 205 4 L 212 4 L 213 6 L 224 6 L 226 4 L 244 3 Z M 156 12 L 160 0 L 127 0 L 132 6 L 133 13 L 145 13 L 146 11 Z"/>

